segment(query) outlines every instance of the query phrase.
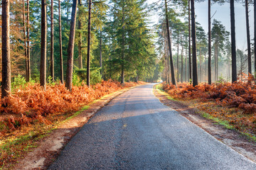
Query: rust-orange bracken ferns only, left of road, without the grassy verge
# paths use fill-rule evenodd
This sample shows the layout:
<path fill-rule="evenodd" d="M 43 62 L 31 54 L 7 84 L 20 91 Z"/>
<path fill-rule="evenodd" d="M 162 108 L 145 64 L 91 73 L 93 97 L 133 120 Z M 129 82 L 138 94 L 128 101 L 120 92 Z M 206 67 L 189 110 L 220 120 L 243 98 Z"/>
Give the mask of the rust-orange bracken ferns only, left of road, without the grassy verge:
<path fill-rule="evenodd" d="M 43 91 L 39 84 L 27 84 L 1 100 L 0 136 L 35 121 L 50 124 L 50 120 L 46 119 L 49 115 L 78 111 L 97 98 L 134 85 L 109 80 L 90 88 L 86 85 L 73 86 L 72 91 L 68 91 L 64 84 L 48 85 Z"/>

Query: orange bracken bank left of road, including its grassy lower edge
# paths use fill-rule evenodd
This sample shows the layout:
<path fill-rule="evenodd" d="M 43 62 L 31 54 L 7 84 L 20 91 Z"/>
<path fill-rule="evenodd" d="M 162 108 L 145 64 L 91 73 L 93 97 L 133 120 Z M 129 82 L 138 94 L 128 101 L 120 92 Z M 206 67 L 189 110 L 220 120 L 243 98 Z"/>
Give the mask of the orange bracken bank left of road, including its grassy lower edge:
<path fill-rule="evenodd" d="M 121 89 L 143 84 L 120 84 L 118 81 L 100 81 L 88 87 L 76 79 L 69 91 L 60 81 L 47 85 L 43 91 L 38 83 L 26 83 L 16 77 L 15 88 L 9 98 L 1 100 L 0 169 L 11 166 L 17 158 L 37 147 L 36 142 L 58 128 L 63 121 L 90 108 L 93 101 Z"/>

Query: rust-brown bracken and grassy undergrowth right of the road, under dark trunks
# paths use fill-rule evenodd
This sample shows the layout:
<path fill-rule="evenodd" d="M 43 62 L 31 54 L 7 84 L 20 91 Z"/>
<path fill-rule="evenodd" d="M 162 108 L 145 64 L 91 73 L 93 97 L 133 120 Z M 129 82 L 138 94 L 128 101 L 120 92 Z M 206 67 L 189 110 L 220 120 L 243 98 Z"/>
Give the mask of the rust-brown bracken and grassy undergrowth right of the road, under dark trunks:
<path fill-rule="evenodd" d="M 255 79 L 244 77 L 246 81 L 222 81 L 215 84 L 201 83 L 193 86 L 178 83 L 177 87 L 166 83 L 159 87 L 172 98 L 186 102 L 191 108 L 198 108 L 205 118 L 234 128 L 251 139 L 256 135 L 256 85 Z"/>

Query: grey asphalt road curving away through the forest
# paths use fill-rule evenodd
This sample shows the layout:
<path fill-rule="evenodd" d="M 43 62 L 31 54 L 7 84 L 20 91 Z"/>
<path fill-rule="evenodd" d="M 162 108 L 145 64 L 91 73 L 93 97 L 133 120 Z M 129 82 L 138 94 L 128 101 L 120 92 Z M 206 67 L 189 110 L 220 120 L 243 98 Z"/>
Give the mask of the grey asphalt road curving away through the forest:
<path fill-rule="evenodd" d="M 90 119 L 49 169 L 256 169 L 171 108 L 146 84 Z"/>

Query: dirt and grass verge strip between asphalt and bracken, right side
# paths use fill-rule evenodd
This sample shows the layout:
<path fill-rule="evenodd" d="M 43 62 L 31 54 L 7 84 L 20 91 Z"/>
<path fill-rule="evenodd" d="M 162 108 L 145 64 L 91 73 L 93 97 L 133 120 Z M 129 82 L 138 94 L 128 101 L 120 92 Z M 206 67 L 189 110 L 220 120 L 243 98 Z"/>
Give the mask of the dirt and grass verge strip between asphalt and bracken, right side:
<path fill-rule="evenodd" d="M 244 132 L 235 130 L 225 120 L 214 118 L 200 109 L 201 102 L 199 99 L 174 98 L 166 93 L 162 84 L 157 84 L 154 88 L 154 94 L 161 103 L 173 108 L 192 123 L 206 130 L 217 140 L 233 148 L 236 152 L 244 155 L 253 162 L 256 162 L 256 142 L 253 137 L 246 135 Z M 218 110 L 218 106 L 216 106 Z"/>

